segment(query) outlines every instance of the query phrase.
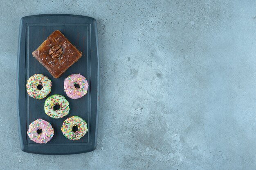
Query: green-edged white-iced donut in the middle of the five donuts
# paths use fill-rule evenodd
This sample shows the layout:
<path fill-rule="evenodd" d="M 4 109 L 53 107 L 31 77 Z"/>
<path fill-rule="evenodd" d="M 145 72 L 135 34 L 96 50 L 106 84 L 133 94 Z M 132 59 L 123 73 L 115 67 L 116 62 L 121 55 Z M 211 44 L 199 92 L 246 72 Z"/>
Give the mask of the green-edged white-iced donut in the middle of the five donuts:
<path fill-rule="evenodd" d="M 63 118 L 70 111 L 70 105 L 64 96 L 54 94 L 45 100 L 45 113 L 51 118 Z"/>

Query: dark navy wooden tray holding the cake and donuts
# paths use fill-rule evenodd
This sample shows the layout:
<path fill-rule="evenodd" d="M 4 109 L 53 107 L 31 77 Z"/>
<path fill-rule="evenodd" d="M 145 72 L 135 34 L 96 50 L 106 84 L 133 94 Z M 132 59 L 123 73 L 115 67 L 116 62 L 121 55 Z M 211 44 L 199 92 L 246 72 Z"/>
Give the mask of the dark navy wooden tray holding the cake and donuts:
<path fill-rule="evenodd" d="M 52 75 L 33 56 L 32 52 L 55 30 L 63 35 L 83 56 L 67 69 L 60 78 Z M 73 100 L 64 92 L 64 79 L 80 73 L 88 80 L 88 94 Z M 44 102 L 28 96 L 27 79 L 34 74 L 43 74 L 52 81 L 52 91 L 47 96 L 61 94 L 70 103 L 70 112 L 60 119 L 53 119 L 44 112 Z M 23 17 L 20 20 L 17 61 L 17 112 L 21 150 L 28 153 L 64 155 L 90 152 L 97 145 L 99 114 L 99 49 L 96 20 L 92 17 L 65 14 L 45 14 Z M 61 132 L 63 121 L 70 116 L 79 116 L 87 122 L 88 133 L 80 140 L 67 139 Z M 42 118 L 54 128 L 53 138 L 46 144 L 37 144 L 27 135 L 29 124 Z"/>

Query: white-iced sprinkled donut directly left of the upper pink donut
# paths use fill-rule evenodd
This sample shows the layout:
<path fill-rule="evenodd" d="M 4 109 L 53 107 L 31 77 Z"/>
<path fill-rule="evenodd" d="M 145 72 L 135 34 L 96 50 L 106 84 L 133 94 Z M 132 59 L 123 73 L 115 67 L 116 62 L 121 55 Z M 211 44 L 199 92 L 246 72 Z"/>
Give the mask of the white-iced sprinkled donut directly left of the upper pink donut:
<path fill-rule="evenodd" d="M 45 98 L 52 89 L 52 82 L 43 74 L 34 74 L 27 80 L 27 94 L 36 99 Z"/>

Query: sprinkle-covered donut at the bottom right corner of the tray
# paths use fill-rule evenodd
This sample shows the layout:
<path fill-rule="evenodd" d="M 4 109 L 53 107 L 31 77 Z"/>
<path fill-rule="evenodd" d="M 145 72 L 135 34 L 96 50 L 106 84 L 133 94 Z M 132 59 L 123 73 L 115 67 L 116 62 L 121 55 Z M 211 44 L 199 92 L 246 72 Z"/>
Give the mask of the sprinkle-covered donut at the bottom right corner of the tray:
<path fill-rule="evenodd" d="M 88 129 L 86 122 L 82 118 L 71 116 L 63 122 L 61 131 L 67 139 L 79 140 L 88 132 Z"/>

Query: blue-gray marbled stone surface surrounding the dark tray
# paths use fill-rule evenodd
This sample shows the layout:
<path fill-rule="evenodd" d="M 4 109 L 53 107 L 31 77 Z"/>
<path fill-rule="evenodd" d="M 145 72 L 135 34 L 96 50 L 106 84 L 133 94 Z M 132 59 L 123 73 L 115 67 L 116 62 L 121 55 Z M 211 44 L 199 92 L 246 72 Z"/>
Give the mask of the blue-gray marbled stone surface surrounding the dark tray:
<path fill-rule="evenodd" d="M 254 1 L 2 0 L 0 169 L 256 169 Z M 16 60 L 20 18 L 97 20 L 97 150 L 20 150 Z"/>

